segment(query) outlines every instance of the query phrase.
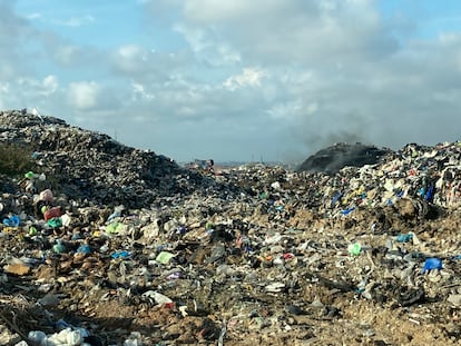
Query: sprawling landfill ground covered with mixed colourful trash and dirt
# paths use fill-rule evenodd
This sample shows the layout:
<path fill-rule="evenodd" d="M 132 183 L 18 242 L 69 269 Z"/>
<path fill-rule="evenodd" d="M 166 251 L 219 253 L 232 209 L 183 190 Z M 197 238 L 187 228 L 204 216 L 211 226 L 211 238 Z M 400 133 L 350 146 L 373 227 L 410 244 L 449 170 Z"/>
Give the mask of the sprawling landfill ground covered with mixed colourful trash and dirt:
<path fill-rule="evenodd" d="M 0 175 L 0 345 L 460 345 L 461 142 L 208 169 L 6 110 L 0 144 L 36 165 Z"/>

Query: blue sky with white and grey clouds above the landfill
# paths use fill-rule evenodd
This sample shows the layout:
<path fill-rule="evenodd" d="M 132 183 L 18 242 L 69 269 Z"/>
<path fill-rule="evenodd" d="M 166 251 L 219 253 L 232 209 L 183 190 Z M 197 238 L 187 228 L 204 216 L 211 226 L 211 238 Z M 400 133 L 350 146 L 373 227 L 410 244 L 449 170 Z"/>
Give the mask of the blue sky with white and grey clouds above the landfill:
<path fill-rule="evenodd" d="M 460 139 L 458 0 L 0 0 L 0 109 L 178 162 Z"/>

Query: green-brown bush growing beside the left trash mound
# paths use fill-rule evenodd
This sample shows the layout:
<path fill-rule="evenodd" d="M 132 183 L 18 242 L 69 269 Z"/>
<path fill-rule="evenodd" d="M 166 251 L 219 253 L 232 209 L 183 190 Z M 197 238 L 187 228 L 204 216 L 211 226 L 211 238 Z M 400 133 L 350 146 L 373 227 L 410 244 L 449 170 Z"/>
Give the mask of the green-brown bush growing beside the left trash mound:
<path fill-rule="evenodd" d="M 26 146 L 0 144 L 0 174 L 17 176 L 33 170 L 31 152 Z"/>

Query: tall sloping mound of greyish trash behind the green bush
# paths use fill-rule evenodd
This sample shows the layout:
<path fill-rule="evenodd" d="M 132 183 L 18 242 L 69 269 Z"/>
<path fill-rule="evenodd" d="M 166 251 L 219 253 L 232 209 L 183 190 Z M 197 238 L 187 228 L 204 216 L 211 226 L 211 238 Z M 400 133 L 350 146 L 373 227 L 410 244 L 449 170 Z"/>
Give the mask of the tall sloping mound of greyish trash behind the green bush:
<path fill-rule="evenodd" d="M 158 196 L 187 195 L 215 185 L 163 155 L 26 110 L 0 112 L 0 141 L 32 148 L 40 174 L 52 177 L 56 189 L 70 199 L 141 207 Z"/>

